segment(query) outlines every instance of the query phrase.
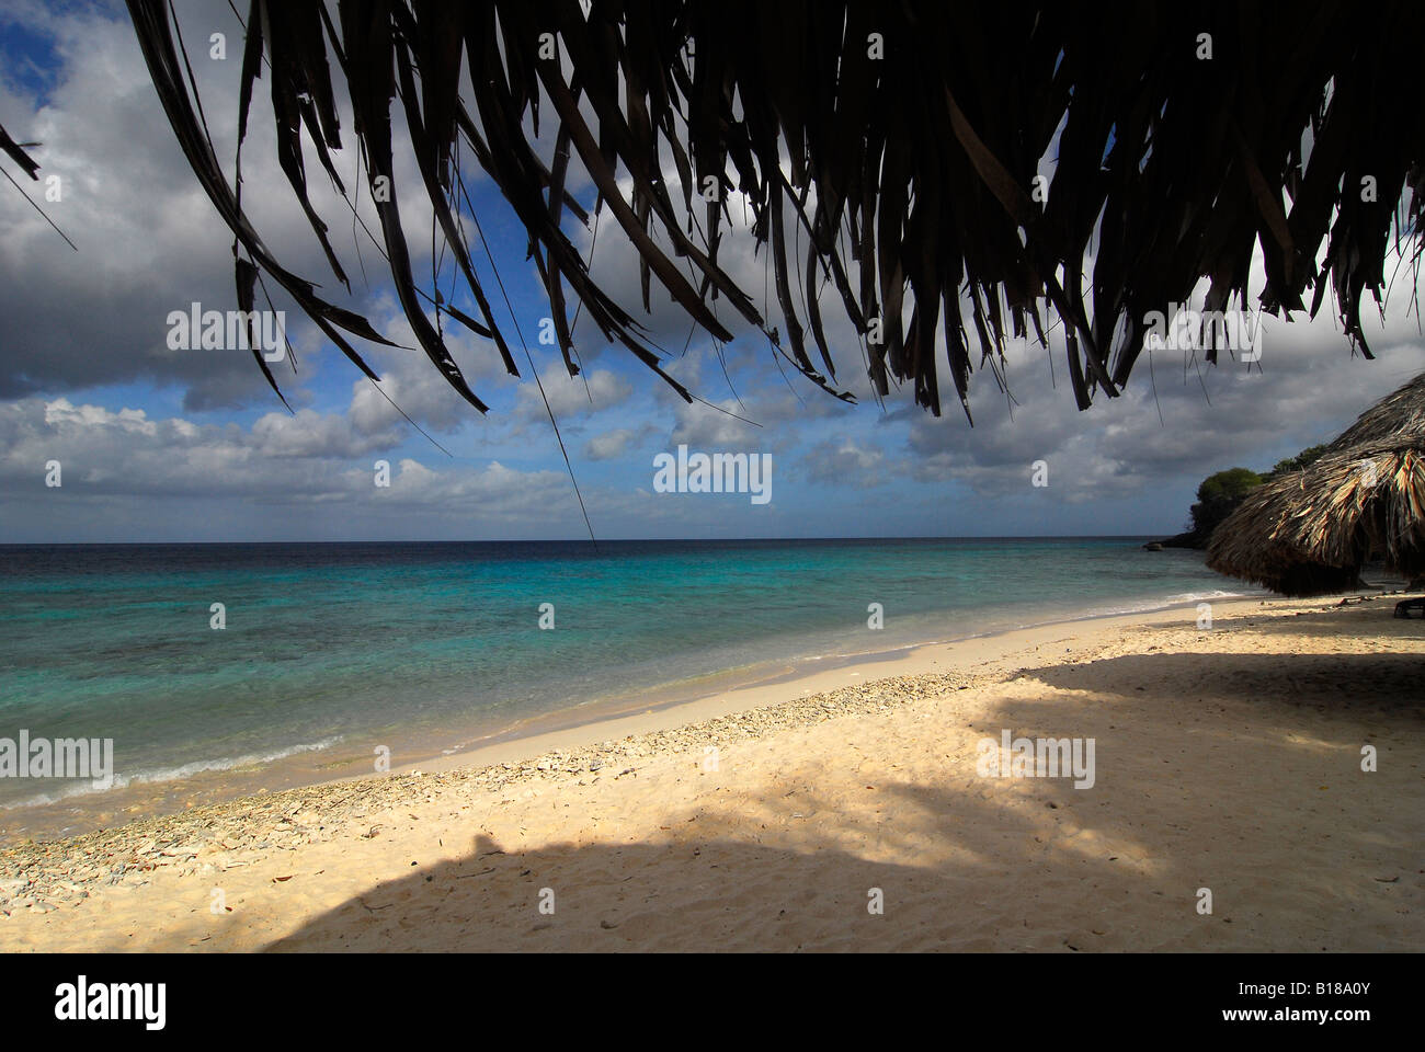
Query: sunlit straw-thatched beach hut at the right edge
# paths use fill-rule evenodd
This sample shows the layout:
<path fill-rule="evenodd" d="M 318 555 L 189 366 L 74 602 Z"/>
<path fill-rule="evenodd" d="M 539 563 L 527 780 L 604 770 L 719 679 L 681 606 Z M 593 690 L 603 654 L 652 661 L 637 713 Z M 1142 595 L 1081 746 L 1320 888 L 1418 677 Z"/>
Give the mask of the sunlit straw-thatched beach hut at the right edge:
<path fill-rule="evenodd" d="M 1375 559 L 1425 573 L 1425 373 L 1318 460 L 1253 490 L 1207 549 L 1211 569 L 1288 596 L 1349 589 Z"/>

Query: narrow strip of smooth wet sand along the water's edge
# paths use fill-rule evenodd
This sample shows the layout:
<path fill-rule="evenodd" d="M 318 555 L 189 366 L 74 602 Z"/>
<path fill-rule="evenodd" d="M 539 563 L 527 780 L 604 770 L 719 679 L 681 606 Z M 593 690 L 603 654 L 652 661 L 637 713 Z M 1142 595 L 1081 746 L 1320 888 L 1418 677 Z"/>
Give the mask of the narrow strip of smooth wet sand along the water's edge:
<path fill-rule="evenodd" d="M 835 690 L 849 686 L 852 680 L 864 680 L 872 670 L 876 674 L 916 674 L 882 671 L 891 667 L 909 664 L 921 670 L 923 661 L 918 660 L 922 651 L 936 650 L 938 654 L 949 656 L 952 647 L 988 647 L 996 640 L 1006 640 L 1013 646 L 1013 640 L 1026 633 L 1052 631 L 1057 627 L 1073 624 L 1094 624 L 1100 622 L 1130 620 L 1139 623 L 1141 619 L 1171 614 L 1173 612 L 1196 607 L 1200 602 L 1226 606 L 1228 603 L 1257 603 L 1263 602 L 1257 596 L 1226 593 L 1223 596 L 1201 596 L 1181 602 L 1151 604 L 1143 609 L 1121 612 L 1079 612 L 1066 617 L 1054 617 L 1046 622 L 1022 624 L 1015 627 L 990 629 L 989 631 L 972 633 L 968 636 L 899 643 L 886 649 L 866 650 L 861 653 L 835 653 L 792 657 L 787 660 L 761 661 L 751 666 L 721 669 L 695 680 L 657 684 L 630 694 L 593 698 L 577 706 L 560 708 L 549 713 L 539 713 L 502 730 L 489 734 L 476 734 L 475 743 L 460 743 L 455 747 L 442 747 L 435 743 L 423 748 L 408 748 L 408 756 L 398 763 L 392 763 L 388 773 L 379 773 L 370 756 L 352 751 L 355 743 L 333 743 L 325 747 L 298 747 L 276 760 L 264 760 L 252 764 L 237 764 L 217 770 L 200 770 L 178 778 L 141 780 L 120 790 L 103 793 L 78 791 L 61 795 L 56 800 L 38 804 L 19 804 L 0 810 L 0 851 L 28 842 L 47 842 L 57 840 L 73 840 L 88 832 L 121 828 L 138 821 L 161 820 L 194 807 L 222 807 L 235 801 L 255 795 L 275 793 L 289 793 L 304 788 L 315 788 L 343 781 L 385 777 L 386 774 L 402 774 L 418 770 L 450 770 L 469 764 L 510 763 L 537 756 L 551 748 L 584 747 L 608 737 L 596 733 L 600 727 L 611 727 L 614 737 L 644 734 L 656 730 L 670 730 L 684 721 L 698 721 L 707 718 L 707 713 L 727 714 L 732 711 L 727 698 L 750 698 L 742 704 L 755 707 L 779 704 L 807 694 L 804 681 L 814 681 L 815 690 Z M 935 664 L 932 659 L 931 664 Z M 698 689 L 688 694 L 685 687 L 693 681 L 727 681 L 730 686 L 722 690 Z M 644 696 L 648 700 L 631 703 L 633 697 Z M 680 713 L 688 713 L 687 720 Z M 445 740 L 459 737 L 460 731 L 450 728 Z M 375 741 L 375 737 L 372 737 Z M 370 743 L 366 743 L 370 744 Z M 345 747 L 345 748 L 343 748 Z M 342 750 L 346 756 L 336 756 L 333 750 Z M 318 761 L 315 765 L 302 764 L 304 757 Z M 325 760 L 323 760 L 325 757 Z M 202 763 L 202 761 L 197 761 Z M 298 764 L 302 764 L 301 767 Z M 353 767 L 355 764 L 370 765 L 370 770 L 345 774 L 323 774 L 338 767 Z M 239 777 L 249 774 L 247 784 L 239 783 Z M 76 814 L 77 813 L 77 814 Z M 16 820 L 20 821 L 16 821 Z M 115 821 L 115 818 L 118 821 Z M 20 830 L 10 832 L 10 827 L 20 825 Z"/>

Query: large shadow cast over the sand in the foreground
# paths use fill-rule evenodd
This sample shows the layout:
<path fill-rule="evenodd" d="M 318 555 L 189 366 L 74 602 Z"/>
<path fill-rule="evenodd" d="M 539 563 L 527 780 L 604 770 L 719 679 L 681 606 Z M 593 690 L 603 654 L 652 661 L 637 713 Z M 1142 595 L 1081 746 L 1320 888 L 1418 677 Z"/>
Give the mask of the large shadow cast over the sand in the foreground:
<path fill-rule="evenodd" d="M 899 783 L 862 767 L 848 795 L 802 765 L 764 797 L 674 801 L 661 842 L 476 837 L 268 949 L 1418 949 L 1419 659 L 1288 660 L 1285 679 L 1281 654 L 1235 653 L 1022 671 L 975 730 L 1096 737 L 1093 790 L 993 783 L 962 756 Z"/>

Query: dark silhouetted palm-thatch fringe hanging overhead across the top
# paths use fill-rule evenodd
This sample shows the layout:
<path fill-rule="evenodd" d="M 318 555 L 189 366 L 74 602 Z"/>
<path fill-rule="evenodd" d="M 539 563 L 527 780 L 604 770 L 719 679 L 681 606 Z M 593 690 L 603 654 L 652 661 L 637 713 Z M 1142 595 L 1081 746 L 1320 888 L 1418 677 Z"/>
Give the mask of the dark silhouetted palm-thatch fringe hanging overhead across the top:
<path fill-rule="evenodd" d="M 234 231 L 239 305 L 249 309 L 254 282 L 271 278 L 375 375 L 351 336 L 382 336 L 285 269 L 251 224 L 239 165 L 229 175 L 207 135 L 214 103 L 197 98 L 172 6 L 128 9 L 178 141 Z M 475 167 L 529 232 L 570 373 L 580 368 L 570 308 L 661 373 L 661 348 L 598 287 L 566 231 L 607 210 L 606 227 L 640 255 L 646 311 L 658 285 L 715 341 L 730 339 L 725 321 L 737 314 L 835 393 L 822 311 L 839 301 L 862 346 L 838 356 L 864 358 L 879 393 L 909 383 L 936 413 L 939 334 L 968 412 L 972 368 L 998 371 L 1006 338 L 1043 339 L 1057 318 L 1087 408 L 1127 381 L 1149 312 L 1186 302 L 1201 279 L 1211 282 L 1206 309 L 1247 306 L 1250 292 L 1273 312 L 1308 309 L 1311 289 L 1315 314 L 1330 291 L 1369 355 L 1362 294 L 1379 298 L 1392 232 L 1425 231 L 1416 0 L 1382 0 L 1369 17 L 1354 0 L 1307 10 L 1237 0 L 335 0 L 331 10 L 249 0 L 244 21 L 239 137 L 261 76 L 282 170 L 346 284 L 308 200 L 306 163 L 315 154 L 348 192 L 333 153 L 343 145 L 336 100 L 349 100 L 363 195 L 379 200 L 380 181 L 389 191 L 375 205 L 378 235 L 402 308 L 435 368 L 480 409 L 439 322 L 489 336 L 510 373 L 523 366 L 510 349 L 519 325 L 492 308 L 499 296 L 486 295 L 490 275 L 466 244 L 477 225 L 462 172 Z M 554 131 L 551 163 L 530 135 L 542 124 Z M 415 157 L 416 185 L 390 182 L 396 151 Z M 670 190 L 665 163 L 681 191 Z M 566 190 L 579 165 L 596 201 Z M 734 190 L 771 259 L 775 304 L 718 262 Z M 463 309 L 416 277 L 429 268 L 412 259 L 398 211 L 410 194 L 435 210 L 446 244 L 432 257 L 453 254 L 470 294 Z M 1250 291 L 1258 248 L 1265 285 Z"/>

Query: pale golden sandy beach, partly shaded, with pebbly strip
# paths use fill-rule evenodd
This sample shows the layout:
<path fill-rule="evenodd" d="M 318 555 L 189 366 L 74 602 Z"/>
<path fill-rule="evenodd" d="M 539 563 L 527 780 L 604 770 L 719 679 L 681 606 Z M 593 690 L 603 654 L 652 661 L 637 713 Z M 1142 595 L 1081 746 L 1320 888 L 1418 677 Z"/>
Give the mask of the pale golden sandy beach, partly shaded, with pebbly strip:
<path fill-rule="evenodd" d="M 21 845 L 0 948 L 1425 947 L 1425 623 L 1213 614 L 922 647 Z M 1093 738 L 1093 787 L 979 774 L 1005 730 Z"/>

